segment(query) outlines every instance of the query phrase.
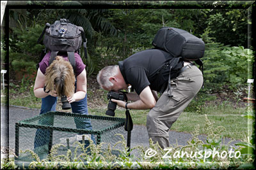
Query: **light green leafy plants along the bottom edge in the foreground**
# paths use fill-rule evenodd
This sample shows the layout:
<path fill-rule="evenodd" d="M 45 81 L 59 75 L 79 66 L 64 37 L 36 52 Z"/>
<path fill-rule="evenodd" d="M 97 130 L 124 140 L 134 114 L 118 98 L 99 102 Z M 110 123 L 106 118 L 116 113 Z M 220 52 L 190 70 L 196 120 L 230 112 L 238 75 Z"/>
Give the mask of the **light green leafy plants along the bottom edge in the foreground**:
<path fill-rule="evenodd" d="M 90 140 L 90 145 L 84 148 L 83 143 L 76 142 L 73 146 L 74 152 L 67 150 L 67 153 L 58 155 L 58 149 L 65 147 L 58 144 L 52 146 L 51 153 L 46 159 L 40 160 L 38 155 L 31 150 L 26 150 L 35 161 L 29 164 L 29 169 L 236 169 L 238 167 L 252 167 L 254 157 L 243 155 L 244 148 L 240 146 L 225 145 L 222 134 L 223 127 L 216 127 L 205 115 L 205 131 L 207 139 L 198 139 L 200 126 L 197 125 L 193 132 L 193 138 L 188 141 L 188 145 L 172 145 L 162 149 L 158 143 L 149 140 L 149 147 L 136 146 L 128 151 L 124 137 L 118 141 L 113 148 L 109 144 L 100 143 L 94 145 Z M 106 147 L 103 147 L 106 145 Z M 212 151 L 225 153 L 232 148 L 236 153 L 242 153 L 240 157 L 218 157 Z M 138 151 L 140 157 L 135 157 L 133 151 Z M 150 152 L 151 151 L 151 155 Z M 207 155 L 207 152 L 212 152 Z M 196 157 L 200 153 L 204 157 Z M 116 154 L 117 153 L 117 154 Z M 154 153 L 154 154 L 152 154 Z M 184 153 L 184 155 L 182 155 Z M 130 156 L 129 156 L 130 155 Z M 239 155 L 239 154 L 238 154 Z M 3 169 L 16 168 L 15 164 L 7 162 Z"/>

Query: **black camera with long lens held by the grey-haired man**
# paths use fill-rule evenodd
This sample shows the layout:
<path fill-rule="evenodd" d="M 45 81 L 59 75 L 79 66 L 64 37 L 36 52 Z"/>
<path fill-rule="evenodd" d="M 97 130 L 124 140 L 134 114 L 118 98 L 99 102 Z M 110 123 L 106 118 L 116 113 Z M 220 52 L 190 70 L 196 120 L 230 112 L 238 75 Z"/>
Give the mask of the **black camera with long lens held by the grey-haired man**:
<path fill-rule="evenodd" d="M 115 102 L 111 101 L 111 99 L 116 99 L 120 101 L 127 101 L 127 97 L 125 95 L 125 92 L 108 92 L 108 110 L 106 111 L 106 115 L 115 117 L 115 110 L 116 110 L 116 104 Z"/>

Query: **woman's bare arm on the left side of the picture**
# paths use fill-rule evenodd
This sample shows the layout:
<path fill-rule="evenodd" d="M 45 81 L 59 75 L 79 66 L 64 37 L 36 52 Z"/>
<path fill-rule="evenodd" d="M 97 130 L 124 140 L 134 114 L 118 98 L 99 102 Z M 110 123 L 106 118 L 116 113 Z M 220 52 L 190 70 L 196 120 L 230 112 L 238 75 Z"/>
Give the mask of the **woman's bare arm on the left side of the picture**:
<path fill-rule="evenodd" d="M 35 85 L 34 85 L 35 97 L 44 98 L 44 97 L 49 96 L 49 95 L 57 97 L 57 94 L 56 94 L 55 91 L 50 91 L 49 93 L 45 93 L 44 92 L 44 85 L 45 85 L 45 76 L 40 71 L 40 69 L 38 69 L 37 74 L 36 74 Z"/>

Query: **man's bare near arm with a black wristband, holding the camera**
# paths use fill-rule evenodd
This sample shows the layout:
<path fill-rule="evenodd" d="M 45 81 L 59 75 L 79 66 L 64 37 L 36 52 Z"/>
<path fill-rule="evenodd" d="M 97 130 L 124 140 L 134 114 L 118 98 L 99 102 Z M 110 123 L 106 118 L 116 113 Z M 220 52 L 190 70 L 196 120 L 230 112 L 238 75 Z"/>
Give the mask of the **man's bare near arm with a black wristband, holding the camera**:
<path fill-rule="evenodd" d="M 119 101 L 115 99 L 111 99 L 111 101 L 117 103 L 118 106 L 125 108 L 125 102 L 124 101 Z M 134 109 L 134 110 L 147 110 L 154 108 L 156 105 L 156 99 L 154 98 L 150 87 L 147 86 L 145 89 L 142 90 L 140 94 L 140 99 L 138 101 L 135 101 L 133 103 L 128 104 L 129 109 Z"/>

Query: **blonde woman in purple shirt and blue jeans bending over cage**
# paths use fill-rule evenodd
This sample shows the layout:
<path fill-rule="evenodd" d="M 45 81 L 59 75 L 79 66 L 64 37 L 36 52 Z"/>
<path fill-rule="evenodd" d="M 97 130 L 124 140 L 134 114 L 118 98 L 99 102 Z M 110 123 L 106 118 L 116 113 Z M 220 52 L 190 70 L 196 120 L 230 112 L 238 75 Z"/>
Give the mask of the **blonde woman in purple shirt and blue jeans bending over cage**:
<path fill-rule="evenodd" d="M 42 98 L 40 115 L 48 111 L 56 111 L 57 96 L 67 96 L 71 104 L 72 113 L 88 115 L 86 94 L 86 70 L 83 60 L 75 53 L 76 76 L 73 67 L 68 62 L 67 53 L 59 53 L 49 66 L 51 52 L 48 52 L 39 63 L 36 75 L 34 94 Z M 74 118 L 77 129 L 92 130 L 90 120 Z M 43 121 L 43 120 L 42 120 Z M 94 136 L 91 137 L 95 143 Z M 88 141 L 86 141 L 88 145 Z M 37 129 L 34 147 L 48 145 L 49 131 Z"/>

